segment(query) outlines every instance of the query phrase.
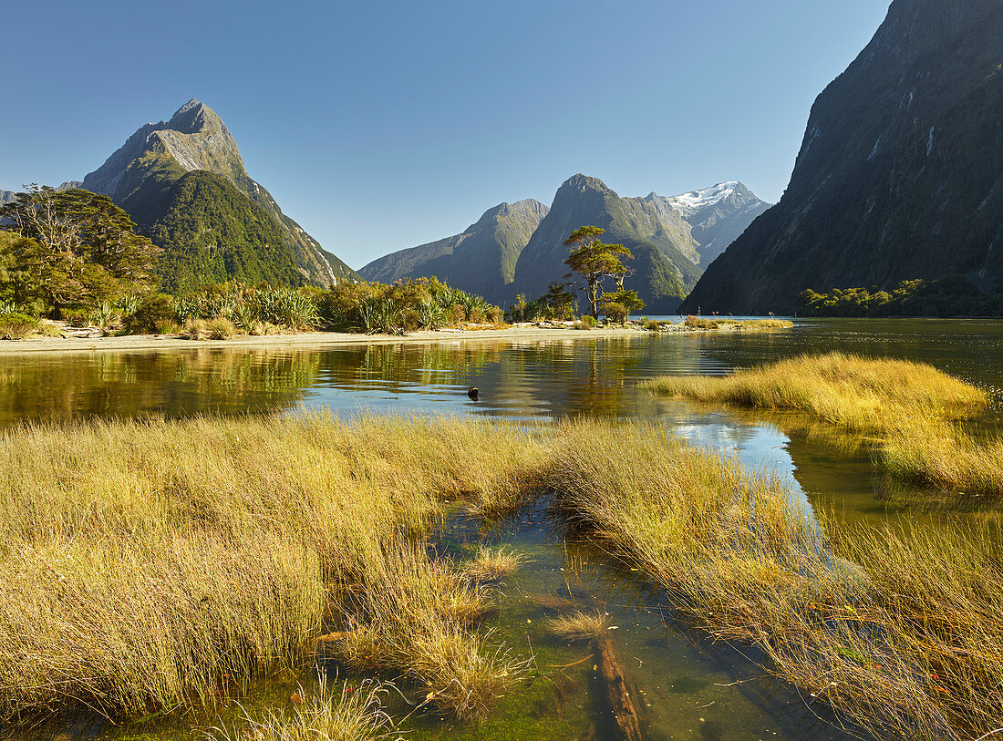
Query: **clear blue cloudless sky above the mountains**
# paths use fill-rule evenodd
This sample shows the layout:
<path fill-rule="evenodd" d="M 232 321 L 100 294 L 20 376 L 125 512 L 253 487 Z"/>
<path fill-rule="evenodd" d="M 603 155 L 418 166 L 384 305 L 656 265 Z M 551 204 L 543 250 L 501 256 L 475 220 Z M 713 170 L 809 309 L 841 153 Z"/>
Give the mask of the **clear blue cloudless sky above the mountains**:
<path fill-rule="evenodd" d="M 888 0 L 31 2 L 0 12 L 0 189 L 80 179 L 191 97 L 353 268 L 575 172 L 775 202 Z"/>

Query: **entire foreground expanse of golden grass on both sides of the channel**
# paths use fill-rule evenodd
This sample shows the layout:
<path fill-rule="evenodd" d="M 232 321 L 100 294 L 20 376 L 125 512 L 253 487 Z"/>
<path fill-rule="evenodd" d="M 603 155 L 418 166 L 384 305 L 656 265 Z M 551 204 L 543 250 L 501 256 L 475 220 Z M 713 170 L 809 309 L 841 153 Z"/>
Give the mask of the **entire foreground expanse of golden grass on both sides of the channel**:
<path fill-rule="evenodd" d="M 879 737 L 978 737 L 1003 717 L 999 527 L 818 524 L 777 479 L 657 426 L 93 422 L 0 434 L 0 470 L 7 717 L 208 700 L 304 658 L 331 616 L 349 665 L 482 714 L 525 662 L 478 632 L 482 589 L 422 534 L 444 500 L 538 490 L 711 637 L 754 643 Z"/>

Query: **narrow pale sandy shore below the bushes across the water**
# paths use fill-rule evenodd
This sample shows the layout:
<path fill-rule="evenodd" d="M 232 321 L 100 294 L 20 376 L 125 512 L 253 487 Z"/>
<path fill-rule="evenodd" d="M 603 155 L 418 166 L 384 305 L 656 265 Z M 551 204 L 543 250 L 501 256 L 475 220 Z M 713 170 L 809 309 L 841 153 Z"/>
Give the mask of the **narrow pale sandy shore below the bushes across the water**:
<path fill-rule="evenodd" d="M 125 337 L 70 338 L 40 337 L 25 340 L 0 340 L 0 355 L 39 352 L 93 352 L 111 350 L 184 350 L 205 347 L 335 347 L 338 345 L 402 344 L 430 342 L 469 342 L 470 340 L 587 340 L 606 337 L 640 337 L 645 330 L 633 327 L 575 330 L 566 327 L 511 327 L 495 330 L 438 330 L 398 335 L 360 335 L 345 332 L 305 332 L 297 335 L 234 337 L 230 340 L 186 340 L 168 335 L 128 335 Z"/>

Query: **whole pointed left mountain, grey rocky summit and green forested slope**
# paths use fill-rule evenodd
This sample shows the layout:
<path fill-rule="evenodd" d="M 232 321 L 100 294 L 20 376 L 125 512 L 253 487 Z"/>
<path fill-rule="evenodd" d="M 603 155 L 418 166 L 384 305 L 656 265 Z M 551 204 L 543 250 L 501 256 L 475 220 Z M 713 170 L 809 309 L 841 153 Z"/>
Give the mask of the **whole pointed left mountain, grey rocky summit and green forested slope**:
<path fill-rule="evenodd" d="M 195 172 L 213 176 L 190 176 Z M 357 277 L 282 213 L 268 191 L 248 174 L 230 129 L 212 108 L 195 98 L 171 120 L 141 126 L 88 173 L 81 187 L 107 195 L 129 214 L 141 233 L 170 240 L 157 244 L 168 256 L 161 279 L 172 290 L 194 287 L 191 282 L 200 282 L 200 267 L 210 263 L 213 280 L 223 275 L 249 282 L 328 285 Z M 199 218 L 186 219 L 186 203 L 191 204 L 193 198 L 199 203 Z M 207 199 L 216 203 L 207 204 Z M 245 218 L 251 219 L 246 229 L 237 224 Z M 220 219 L 228 225 L 222 227 Z M 262 227 L 262 219 L 274 222 L 277 231 L 272 234 Z M 170 226 L 164 220 L 170 220 Z M 201 252 L 187 261 L 190 248 Z M 207 251 L 215 251 L 212 260 Z M 293 274 L 287 270 L 290 257 Z M 187 276 L 182 281 L 172 272 L 179 269 Z"/>

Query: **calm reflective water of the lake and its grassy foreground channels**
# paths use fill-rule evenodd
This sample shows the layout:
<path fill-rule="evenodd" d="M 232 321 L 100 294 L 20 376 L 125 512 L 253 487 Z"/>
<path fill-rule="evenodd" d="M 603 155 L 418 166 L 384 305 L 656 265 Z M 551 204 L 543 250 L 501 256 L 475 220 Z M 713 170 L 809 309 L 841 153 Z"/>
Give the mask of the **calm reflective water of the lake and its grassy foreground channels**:
<path fill-rule="evenodd" d="M 787 478 L 806 509 L 848 519 L 909 518 L 890 506 L 887 482 L 867 448 L 811 430 L 795 415 L 761 415 L 652 398 L 634 388 L 662 374 L 723 374 L 803 352 L 840 349 L 921 360 L 998 392 L 1003 388 L 1003 322 L 811 320 L 769 333 L 673 334 L 575 340 L 358 345 L 335 349 L 193 351 L 0 356 L 0 426 L 25 420 L 184 417 L 329 407 L 337 413 L 464 414 L 520 419 L 603 415 L 656 419 L 700 445 Z M 470 385 L 480 399 L 465 394 Z M 997 393 L 997 398 L 999 394 Z M 979 424 L 998 429 L 998 402 Z M 441 545 L 461 555 L 470 543 L 503 540 L 533 562 L 503 586 L 493 628 L 544 671 L 478 726 L 411 722 L 411 738 L 608 738 L 595 700 L 591 661 L 564 670 L 588 650 L 548 639 L 534 596 L 560 594 L 614 616 L 617 651 L 644 698 L 652 739 L 849 738 L 789 688 L 767 681 L 740 654 L 710 646 L 673 623 L 664 601 L 597 553 L 568 543 L 541 513 L 481 531 L 454 523 Z M 299 678 L 300 681 L 308 678 Z M 296 679 L 273 679 L 243 698 L 251 707 L 288 701 Z M 228 711 L 223 711 L 226 716 Z M 608 719 L 606 719 L 608 720 Z M 208 722 L 208 721 L 207 721 Z M 200 737 L 192 720 L 125 728 L 63 725 L 66 739 Z M 51 737 L 56 732 L 37 731 Z"/>

